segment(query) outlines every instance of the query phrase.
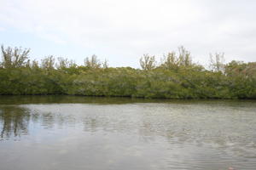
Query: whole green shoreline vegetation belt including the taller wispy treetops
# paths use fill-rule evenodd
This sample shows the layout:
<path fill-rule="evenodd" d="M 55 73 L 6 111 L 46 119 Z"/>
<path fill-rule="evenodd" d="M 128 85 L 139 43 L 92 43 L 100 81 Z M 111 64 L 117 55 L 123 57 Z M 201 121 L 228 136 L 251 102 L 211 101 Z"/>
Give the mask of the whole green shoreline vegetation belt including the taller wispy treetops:
<path fill-rule="evenodd" d="M 221 62 L 211 55 L 211 71 L 192 62 L 183 47 L 166 54 L 157 65 L 154 56 L 140 59 L 142 70 L 108 67 L 95 55 L 84 65 L 53 56 L 30 61 L 29 50 L 3 48 L 0 94 L 74 94 L 165 99 L 256 99 L 256 62 Z"/>

